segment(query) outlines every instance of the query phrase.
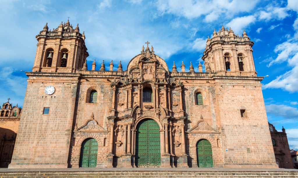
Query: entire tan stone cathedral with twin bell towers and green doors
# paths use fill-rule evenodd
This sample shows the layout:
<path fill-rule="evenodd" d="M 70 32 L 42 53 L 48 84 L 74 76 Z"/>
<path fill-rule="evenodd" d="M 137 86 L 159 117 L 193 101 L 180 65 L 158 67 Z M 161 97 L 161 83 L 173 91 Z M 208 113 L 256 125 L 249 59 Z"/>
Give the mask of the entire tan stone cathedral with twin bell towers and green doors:
<path fill-rule="evenodd" d="M 214 29 L 206 72 L 170 69 L 148 41 L 125 69 L 88 70 L 85 34 L 69 21 L 36 39 L 9 168 L 278 168 L 245 31 Z"/>

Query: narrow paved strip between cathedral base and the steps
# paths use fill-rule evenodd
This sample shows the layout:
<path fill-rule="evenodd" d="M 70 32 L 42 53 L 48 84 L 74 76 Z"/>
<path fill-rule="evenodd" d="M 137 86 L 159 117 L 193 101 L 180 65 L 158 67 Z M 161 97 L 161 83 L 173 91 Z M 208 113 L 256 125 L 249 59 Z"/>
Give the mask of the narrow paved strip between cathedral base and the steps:
<path fill-rule="evenodd" d="M 298 169 L 242 169 L 242 168 L 42 168 L 42 169 L 7 169 L 0 168 L 0 172 L 64 172 L 64 171 L 210 171 L 210 172 L 239 172 L 239 171 L 291 171 L 298 172 Z"/>

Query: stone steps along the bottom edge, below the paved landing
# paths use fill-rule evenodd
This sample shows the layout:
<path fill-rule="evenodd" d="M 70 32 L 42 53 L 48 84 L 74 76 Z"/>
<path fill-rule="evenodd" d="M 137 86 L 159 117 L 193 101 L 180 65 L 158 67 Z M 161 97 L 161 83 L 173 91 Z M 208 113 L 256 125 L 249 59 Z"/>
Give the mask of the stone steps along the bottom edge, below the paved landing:
<path fill-rule="evenodd" d="M 7 171 L 0 178 L 298 178 L 298 171 Z"/>

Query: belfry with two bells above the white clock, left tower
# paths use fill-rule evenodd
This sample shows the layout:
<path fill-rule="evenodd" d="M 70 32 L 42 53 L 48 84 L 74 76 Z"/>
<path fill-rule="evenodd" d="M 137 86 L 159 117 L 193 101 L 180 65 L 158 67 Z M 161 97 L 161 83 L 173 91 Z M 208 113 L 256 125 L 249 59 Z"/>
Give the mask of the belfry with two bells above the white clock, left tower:
<path fill-rule="evenodd" d="M 80 33 L 79 24 L 73 28 L 69 20 L 52 31 L 46 23 L 36 39 L 33 72 L 75 72 L 83 68 L 89 56 L 84 32 Z"/>

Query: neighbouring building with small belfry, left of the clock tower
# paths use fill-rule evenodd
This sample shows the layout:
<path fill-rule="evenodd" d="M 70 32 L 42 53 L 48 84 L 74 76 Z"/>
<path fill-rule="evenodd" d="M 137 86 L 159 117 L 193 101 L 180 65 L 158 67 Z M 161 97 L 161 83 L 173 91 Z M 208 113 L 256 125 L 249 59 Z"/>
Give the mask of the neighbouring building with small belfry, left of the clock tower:
<path fill-rule="evenodd" d="M 12 106 L 9 100 L 0 108 L 0 167 L 7 168 L 13 156 L 22 108 Z"/>

